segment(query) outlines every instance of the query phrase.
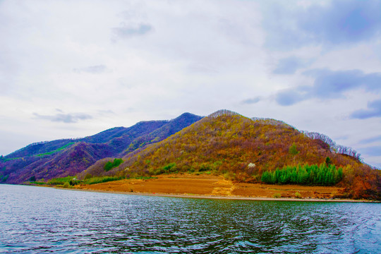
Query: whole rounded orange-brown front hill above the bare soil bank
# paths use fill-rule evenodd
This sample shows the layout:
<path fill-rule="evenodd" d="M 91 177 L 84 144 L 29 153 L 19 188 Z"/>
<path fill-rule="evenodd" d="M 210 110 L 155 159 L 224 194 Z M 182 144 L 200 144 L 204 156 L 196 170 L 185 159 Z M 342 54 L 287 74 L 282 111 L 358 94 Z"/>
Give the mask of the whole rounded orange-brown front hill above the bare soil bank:
<path fill-rule="evenodd" d="M 107 162 L 107 159 L 100 160 L 80 177 L 87 174 L 131 177 L 206 172 L 223 175 L 232 181 L 261 182 L 265 172 L 282 173 L 284 167 L 294 169 L 295 174 L 304 170 L 307 179 L 313 178 L 315 173 L 311 173 L 310 168 L 318 171 L 320 167 L 327 169 L 323 176 L 328 180 L 316 180 L 316 183 L 337 183 L 345 190 L 342 197 L 381 198 L 380 171 L 363 164 L 353 150 L 333 149 L 322 138 L 311 138 L 282 121 L 248 119 L 231 111 L 217 111 L 162 142 L 135 150 L 123 157 L 119 167 L 110 171 L 104 171 Z"/>

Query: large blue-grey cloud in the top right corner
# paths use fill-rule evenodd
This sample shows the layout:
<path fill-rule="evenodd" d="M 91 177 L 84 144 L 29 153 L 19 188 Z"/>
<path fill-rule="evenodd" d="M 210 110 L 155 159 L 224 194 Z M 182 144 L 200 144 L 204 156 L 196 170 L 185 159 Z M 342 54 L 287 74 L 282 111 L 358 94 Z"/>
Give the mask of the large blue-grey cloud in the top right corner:
<path fill-rule="evenodd" d="M 381 32 L 381 2 L 377 0 L 336 0 L 308 8 L 293 7 L 272 4 L 265 10 L 268 47 L 351 44 L 372 40 Z"/>

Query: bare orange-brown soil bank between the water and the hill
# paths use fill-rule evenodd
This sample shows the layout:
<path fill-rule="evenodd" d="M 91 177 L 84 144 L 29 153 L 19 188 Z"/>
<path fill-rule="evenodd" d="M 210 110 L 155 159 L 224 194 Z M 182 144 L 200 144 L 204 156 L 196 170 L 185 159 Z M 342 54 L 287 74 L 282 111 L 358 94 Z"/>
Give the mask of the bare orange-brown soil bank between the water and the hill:
<path fill-rule="evenodd" d="M 98 183 L 76 188 L 92 191 L 111 191 L 119 193 L 153 193 L 176 195 L 205 195 L 226 198 L 296 198 L 332 199 L 344 188 L 324 186 L 269 185 L 260 183 L 233 183 L 222 176 L 212 175 L 160 175 L 158 179 L 126 179 Z"/>

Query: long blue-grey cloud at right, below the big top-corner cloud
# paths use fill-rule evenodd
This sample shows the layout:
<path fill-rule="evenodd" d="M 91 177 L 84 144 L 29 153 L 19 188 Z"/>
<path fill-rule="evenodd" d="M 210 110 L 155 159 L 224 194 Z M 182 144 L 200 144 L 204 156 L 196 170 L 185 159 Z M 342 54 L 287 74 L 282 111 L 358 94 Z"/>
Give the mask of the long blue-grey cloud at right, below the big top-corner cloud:
<path fill-rule="evenodd" d="M 314 69 L 306 71 L 303 75 L 315 78 L 310 87 L 299 86 L 294 90 L 278 92 L 276 100 L 281 105 L 291 105 L 311 97 L 320 99 L 335 99 L 344 97 L 344 92 L 363 88 L 369 92 L 381 91 L 381 73 L 365 74 L 359 70 L 330 71 L 327 69 Z M 376 103 L 376 102 L 375 102 Z M 370 104 L 377 108 L 377 105 Z M 364 113 L 364 112 L 363 112 Z M 368 112 L 377 114 L 377 111 Z"/>

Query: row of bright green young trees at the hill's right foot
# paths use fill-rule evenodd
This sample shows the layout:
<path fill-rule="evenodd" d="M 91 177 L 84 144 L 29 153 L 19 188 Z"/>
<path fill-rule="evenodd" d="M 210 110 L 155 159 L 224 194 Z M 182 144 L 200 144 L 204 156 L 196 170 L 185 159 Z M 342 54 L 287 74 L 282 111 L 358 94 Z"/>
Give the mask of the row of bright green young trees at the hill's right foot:
<path fill-rule="evenodd" d="M 300 165 L 298 167 L 288 166 L 272 172 L 265 171 L 260 180 L 264 183 L 333 186 L 342 178 L 342 168 L 337 169 L 334 165 L 327 166 L 322 163 L 320 167 L 306 164 L 303 167 Z"/>

